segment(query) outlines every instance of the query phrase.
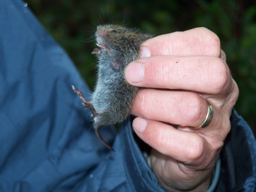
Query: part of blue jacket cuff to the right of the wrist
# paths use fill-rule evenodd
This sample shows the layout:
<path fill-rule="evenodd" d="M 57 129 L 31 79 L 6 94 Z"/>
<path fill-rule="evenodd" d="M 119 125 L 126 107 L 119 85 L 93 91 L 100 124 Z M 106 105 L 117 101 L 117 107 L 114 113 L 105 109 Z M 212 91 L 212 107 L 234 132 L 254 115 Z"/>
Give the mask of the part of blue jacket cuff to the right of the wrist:
<path fill-rule="evenodd" d="M 220 153 L 220 179 L 216 192 L 256 191 L 256 141 L 245 120 L 233 110 L 231 130 Z"/>

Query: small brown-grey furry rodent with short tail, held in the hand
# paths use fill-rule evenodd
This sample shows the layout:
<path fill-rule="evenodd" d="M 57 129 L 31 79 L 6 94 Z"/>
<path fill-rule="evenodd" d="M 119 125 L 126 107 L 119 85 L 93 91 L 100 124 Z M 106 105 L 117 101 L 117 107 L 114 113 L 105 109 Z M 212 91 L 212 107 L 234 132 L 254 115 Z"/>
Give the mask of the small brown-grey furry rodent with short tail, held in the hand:
<path fill-rule="evenodd" d="M 94 129 L 98 138 L 113 150 L 100 136 L 102 125 L 116 124 L 129 116 L 132 101 L 138 91 L 126 82 L 126 66 L 140 57 L 141 44 L 152 36 L 135 28 L 103 24 L 97 27 L 96 45 L 92 54 L 98 56 L 98 74 L 92 101 L 87 101 L 82 92 L 72 86 L 83 105 L 92 111 Z"/>

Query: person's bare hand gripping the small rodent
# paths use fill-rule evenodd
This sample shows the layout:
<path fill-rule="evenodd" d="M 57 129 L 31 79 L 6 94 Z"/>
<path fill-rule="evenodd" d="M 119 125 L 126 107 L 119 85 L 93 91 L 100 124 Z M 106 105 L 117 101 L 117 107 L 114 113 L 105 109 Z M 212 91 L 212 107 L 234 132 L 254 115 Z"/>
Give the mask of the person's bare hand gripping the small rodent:
<path fill-rule="evenodd" d="M 126 80 L 141 89 L 132 105 L 136 134 L 152 147 L 148 164 L 166 190 L 206 191 L 230 130 L 238 87 L 216 34 L 206 28 L 149 39 Z M 207 102 L 213 118 L 203 130 Z M 178 126 L 174 126 L 178 125 Z"/>

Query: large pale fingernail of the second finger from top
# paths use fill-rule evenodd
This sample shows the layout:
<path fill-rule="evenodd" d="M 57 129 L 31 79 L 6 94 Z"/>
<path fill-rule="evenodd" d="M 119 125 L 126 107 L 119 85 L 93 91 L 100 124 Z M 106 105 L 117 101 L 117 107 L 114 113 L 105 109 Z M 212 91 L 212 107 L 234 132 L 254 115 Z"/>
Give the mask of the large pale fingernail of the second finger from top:
<path fill-rule="evenodd" d="M 142 63 L 133 62 L 126 68 L 126 79 L 132 83 L 141 82 L 144 76 L 144 66 Z"/>

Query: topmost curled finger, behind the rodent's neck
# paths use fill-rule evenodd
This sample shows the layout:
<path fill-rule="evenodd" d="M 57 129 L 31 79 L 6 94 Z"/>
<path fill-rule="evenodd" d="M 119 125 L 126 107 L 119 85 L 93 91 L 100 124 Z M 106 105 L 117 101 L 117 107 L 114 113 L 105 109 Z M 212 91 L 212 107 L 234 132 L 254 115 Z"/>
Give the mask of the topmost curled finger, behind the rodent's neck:
<path fill-rule="evenodd" d="M 206 28 L 156 36 L 142 44 L 141 58 L 157 55 L 220 57 L 220 39 Z"/>

